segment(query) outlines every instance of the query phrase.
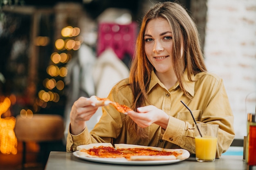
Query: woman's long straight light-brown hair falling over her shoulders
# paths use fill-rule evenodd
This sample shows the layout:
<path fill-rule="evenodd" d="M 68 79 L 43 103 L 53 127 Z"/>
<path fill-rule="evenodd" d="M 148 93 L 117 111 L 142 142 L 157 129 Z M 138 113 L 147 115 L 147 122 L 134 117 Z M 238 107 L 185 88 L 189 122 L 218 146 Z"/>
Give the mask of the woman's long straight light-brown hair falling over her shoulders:
<path fill-rule="evenodd" d="M 207 71 L 200 47 L 198 30 L 186 10 L 180 6 L 180 4 L 173 2 L 155 4 L 155 6 L 146 13 L 141 23 L 141 29 L 136 42 L 135 56 L 130 68 L 130 86 L 134 96 L 131 106 L 133 110 L 150 104 L 147 97 L 147 90 L 150 83 L 151 72 L 154 67 L 146 57 L 144 33 L 148 21 L 155 18 L 164 18 L 171 26 L 173 33 L 173 68 L 179 86 L 187 97 L 192 98 L 183 85 L 184 69 L 187 69 L 190 81 L 193 81 L 191 75 Z M 182 43 L 184 44 L 183 56 L 181 56 Z M 133 136 L 137 136 L 139 139 L 147 137 L 146 129 L 140 128 L 128 116 L 126 117 L 126 123 L 130 135 L 134 134 Z"/>

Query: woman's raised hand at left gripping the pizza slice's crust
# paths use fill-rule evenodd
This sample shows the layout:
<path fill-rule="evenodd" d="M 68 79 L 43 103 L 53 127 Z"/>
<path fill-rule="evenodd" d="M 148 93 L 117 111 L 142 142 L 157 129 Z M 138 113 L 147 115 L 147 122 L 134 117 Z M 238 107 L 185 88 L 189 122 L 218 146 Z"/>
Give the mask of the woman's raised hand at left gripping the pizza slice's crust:
<path fill-rule="evenodd" d="M 86 127 L 85 121 L 97 111 L 98 106 L 92 106 L 92 101 L 86 97 L 80 97 L 74 102 L 70 112 L 70 132 L 72 135 L 79 135 Z"/>

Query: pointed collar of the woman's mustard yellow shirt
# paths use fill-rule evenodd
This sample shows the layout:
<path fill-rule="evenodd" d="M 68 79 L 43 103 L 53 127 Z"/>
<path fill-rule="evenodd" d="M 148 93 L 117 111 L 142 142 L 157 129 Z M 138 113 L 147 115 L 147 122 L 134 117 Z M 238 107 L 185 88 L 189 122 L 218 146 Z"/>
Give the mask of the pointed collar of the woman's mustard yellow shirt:
<path fill-rule="evenodd" d="M 194 97 L 195 95 L 195 82 L 191 82 L 189 81 L 189 78 L 188 78 L 188 72 L 187 72 L 187 69 L 185 69 L 184 71 L 184 74 L 183 74 L 183 77 L 184 77 L 184 88 L 185 90 L 192 96 Z M 194 80 L 194 75 L 191 75 L 191 79 Z M 156 85 L 156 84 L 159 84 L 159 86 L 161 86 L 162 88 L 165 88 L 166 87 L 164 86 L 164 84 L 162 84 L 162 82 L 160 82 L 160 80 L 158 79 L 157 75 L 155 74 L 154 71 L 152 71 L 151 73 L 151 80 L 150 80 L 150 84 L 149 84 L 149 87 L 148 87 L 148 92 L 151 91 L 151 89 Z M 177 88 L 177 86 L 179 86 L 179 83 L 177 82 L 171 89 L 175 89 Z M 168 89 L 166 89 L 168 91 Z M 170 89 L 169 89 L 170 90 Z"/>

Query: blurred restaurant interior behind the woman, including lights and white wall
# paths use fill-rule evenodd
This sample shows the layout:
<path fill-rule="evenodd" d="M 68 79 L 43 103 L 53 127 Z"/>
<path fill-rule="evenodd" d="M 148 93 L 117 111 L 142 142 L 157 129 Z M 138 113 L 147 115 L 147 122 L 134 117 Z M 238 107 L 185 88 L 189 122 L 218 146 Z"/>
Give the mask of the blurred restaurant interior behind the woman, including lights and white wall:
<path fill-rule="evenodd" d="M 128 77 L 142 17 L 155 2 L 163 1 L 0 0 L 1 170 L 43 169 L 50 151 L 65 151 L 72 104 L 106 97 Z M 208 70 L 224 80 L 235 139 L 243 140 L 256 103 L 256 1 L 175 2 L 198 26 Z"/>

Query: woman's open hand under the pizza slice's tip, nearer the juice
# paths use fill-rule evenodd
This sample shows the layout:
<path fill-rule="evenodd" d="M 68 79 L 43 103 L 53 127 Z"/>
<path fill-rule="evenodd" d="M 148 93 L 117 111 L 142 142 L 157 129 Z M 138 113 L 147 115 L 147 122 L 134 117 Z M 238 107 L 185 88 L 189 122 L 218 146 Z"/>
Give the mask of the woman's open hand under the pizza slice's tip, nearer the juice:
<path fill-rule="evenodd" d="M 141 128 L 155 123 L 166 129 L 169 121 L 169 116 L 163 110 L 152 105 L 137 108 L 137 112 L 128 111 L 127 115 Z"/>

